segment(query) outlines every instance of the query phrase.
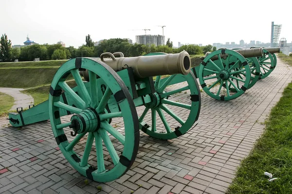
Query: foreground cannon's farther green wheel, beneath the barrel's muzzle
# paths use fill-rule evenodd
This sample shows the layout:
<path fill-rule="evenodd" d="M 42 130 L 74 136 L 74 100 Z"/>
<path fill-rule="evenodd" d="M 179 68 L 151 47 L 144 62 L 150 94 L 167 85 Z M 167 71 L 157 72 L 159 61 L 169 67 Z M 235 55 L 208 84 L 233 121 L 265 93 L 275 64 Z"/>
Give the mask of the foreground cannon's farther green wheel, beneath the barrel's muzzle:
<path fill-rule="evenodd" d="M 187 82 L 187 86 L 176 87 L 177 83 L 183 81 Z M 192 128 L 200 114 L 201 94 L 196 77 L 193 72 L 187 75 L 175 74 L 164 79 L 161 79 L 161 76 L 157 76 L 154 86 L 157 91 L 152 94 L 152 102 L 154 101 L 154 103 L 145 105 L 145 109 L 139 117 L 140 129 L 151 137 L 163 140 L 183 135 Z M 166 88 L 166 86 L 170 87 Z M 190 104 L 176 102 L 169 98 L 171 95 L 182 92 L 190 94 Z M 175 107 L 183 108 L 185 115 L 188 115 L 187 119 L 182 119 L 181 116 L 178 116 Z M 146 116 L 148 112 L 151 112 L 151 116 Z M 174 119 L 168 122 L 168 118 Z M 159 120 L 162 121 L 164 128 L 157 126 L 156 121 Z"/>

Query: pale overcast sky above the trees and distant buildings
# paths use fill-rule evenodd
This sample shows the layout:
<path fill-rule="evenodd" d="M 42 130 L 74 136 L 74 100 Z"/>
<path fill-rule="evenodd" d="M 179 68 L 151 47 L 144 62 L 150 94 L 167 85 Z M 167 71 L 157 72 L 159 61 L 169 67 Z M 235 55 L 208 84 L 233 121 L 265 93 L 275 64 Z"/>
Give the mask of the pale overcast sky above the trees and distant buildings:
<path fill-rule="evenodd" d="M 271 22 L 292 42 L 291 0 L 0 0 L 0 34 L 23 45 L 27 34 L 38 44 L 66 47 L 92 40 L 162 34 L 174 46 L 251 40 L 270 42 Z M 138 30 L 138 31 L 132 31 Z"/>

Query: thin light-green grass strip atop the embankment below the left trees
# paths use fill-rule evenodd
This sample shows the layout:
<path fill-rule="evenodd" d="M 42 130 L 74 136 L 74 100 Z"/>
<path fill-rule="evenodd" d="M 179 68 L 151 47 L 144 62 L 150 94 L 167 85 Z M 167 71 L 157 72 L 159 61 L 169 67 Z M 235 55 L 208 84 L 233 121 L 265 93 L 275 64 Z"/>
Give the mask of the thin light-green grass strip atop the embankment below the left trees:
<path fill-rule="evenodd" d="M 27 62 L 11 62 L 0 63 L 0 68 L 3 67 L 49 67 L 49 66 L 61 66 L 67 60 L 52 60 L 52 61 L 27 61 Z"/>

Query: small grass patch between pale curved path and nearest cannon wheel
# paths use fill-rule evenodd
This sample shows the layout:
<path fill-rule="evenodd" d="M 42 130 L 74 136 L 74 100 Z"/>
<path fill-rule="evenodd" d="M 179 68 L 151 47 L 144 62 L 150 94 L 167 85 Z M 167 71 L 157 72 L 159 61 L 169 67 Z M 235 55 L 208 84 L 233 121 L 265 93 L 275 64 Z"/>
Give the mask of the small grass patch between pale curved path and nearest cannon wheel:
<path fill-rule="evenodd" d="M 76 86 L 75 81 L 66 81 L 67 84 L 73 88 Z M 34 98 L 34 104 L 40 104 L 49 98 L 49 90 L 51 84 L 29 88 L 21 91 L 24 94 L 31 95 Z"/>

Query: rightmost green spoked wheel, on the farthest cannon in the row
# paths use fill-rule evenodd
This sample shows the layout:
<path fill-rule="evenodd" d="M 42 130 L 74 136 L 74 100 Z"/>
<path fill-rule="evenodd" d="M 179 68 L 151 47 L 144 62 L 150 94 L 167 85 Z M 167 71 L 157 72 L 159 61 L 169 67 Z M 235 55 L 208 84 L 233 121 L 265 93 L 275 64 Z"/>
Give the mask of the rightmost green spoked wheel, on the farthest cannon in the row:
<path fill-rule="evenodd" d="M 258 57 L 258 62 L 260 66 L 259 80 L 268 77 L 274 70 L 275 63 L 273 55 L 266 49 L 263 49 L 264 55 Z"/>

